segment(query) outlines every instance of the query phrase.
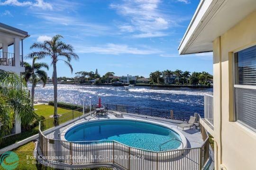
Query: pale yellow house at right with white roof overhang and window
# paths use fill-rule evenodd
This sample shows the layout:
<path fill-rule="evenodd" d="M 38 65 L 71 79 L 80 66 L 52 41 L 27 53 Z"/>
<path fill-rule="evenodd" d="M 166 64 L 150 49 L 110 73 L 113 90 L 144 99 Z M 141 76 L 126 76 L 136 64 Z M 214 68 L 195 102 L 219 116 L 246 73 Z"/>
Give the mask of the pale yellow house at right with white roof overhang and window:
<path fill-rule="evenodd" d="M 178 48 L 213 51 L 213 112 L 206 103 L 200 123 L 214 137 L 216 170 L 256 169 L 255 28 L 256 0 L 201 0 Z"/>

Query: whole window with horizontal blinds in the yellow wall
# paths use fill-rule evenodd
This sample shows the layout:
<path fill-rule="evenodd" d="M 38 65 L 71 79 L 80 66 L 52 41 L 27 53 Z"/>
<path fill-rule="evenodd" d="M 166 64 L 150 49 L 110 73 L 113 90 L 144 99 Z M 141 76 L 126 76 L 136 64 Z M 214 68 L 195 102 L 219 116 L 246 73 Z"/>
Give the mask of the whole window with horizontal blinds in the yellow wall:
<path fill-rule="evenodd" d="M 237 120 L 256 131 L 256 45 L 235 53 Z"/>

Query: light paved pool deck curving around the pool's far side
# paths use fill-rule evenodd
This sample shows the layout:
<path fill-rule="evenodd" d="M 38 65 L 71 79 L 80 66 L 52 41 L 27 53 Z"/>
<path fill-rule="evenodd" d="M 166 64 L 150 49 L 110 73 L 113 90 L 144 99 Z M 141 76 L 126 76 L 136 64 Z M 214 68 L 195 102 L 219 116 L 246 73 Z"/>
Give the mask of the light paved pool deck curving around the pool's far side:
<path fill-rule="evenodd" d="M 177 125 L 179 123 L 184 123 L 183 121 L 179 120 L 171 120 L 171 119 L 164 119 L 164 118 L 156 118 L 156 117 L 151 117 L 151 116 L 145 116 L 145 115 L 137 115 L 137 114 L 131 114 L 131 113 L 122 113 L 122 116 L 120 115 L 120 112 L 118 116 L 116 117 L 114 115 L 115 112 L 109 112 L 108 115 L 105 116 L 94 116 L 94 115 L 88 115 L 84 118 L 78 119 L 66 126 L 60 127 L 55 129 L 54 131 L 51 131 L 46 134 L 46 137 L 52 138 L 52 139 L 59 139 L 63 140 L 64 135 L 66 131 L 70 128 L 73 127 L 74 125 L 80 124 L 82 122 L 87 122 L 91 120 L 104 120 L 104 119 L 131 119 L 131 120 L 142 120 L 142 121 L 151 121 L 155 122 L 157 124 L 163 124 L 163 125 L 168 125 L 169 127 L 172 127 L 174 130 L 180 132 L 185 136 L 186 141 L 187 141 L 187 148 L 194 148 L 194 147 L 200 147 L 201 144 L 203 143 L 203 139 L 201 136 L 201 132 L 195 127 L 190 128 L 184 128 L 184 130 L 180 129 L 179 127 L 177 128 Z"/>

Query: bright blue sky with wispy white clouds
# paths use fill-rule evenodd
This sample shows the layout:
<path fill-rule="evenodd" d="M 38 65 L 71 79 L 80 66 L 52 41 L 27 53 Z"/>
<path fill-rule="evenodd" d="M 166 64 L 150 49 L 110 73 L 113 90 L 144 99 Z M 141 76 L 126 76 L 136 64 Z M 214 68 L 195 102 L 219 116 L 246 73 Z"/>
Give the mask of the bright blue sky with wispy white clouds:
<path fill-rule="evenodd" d="M 72 61 L 73 75 L 59 62 L 57 76 L 96 68 L 101 75 L 113 71 L 118 76 L 148 77 L 165 69 L 212 74 L 212 53 L 179 56 L 177 51 L 199 1 L 0 0 L 0 22 L 30 34 L 25 55 L 33 42 L 63 35 L 80 59 Z"/>

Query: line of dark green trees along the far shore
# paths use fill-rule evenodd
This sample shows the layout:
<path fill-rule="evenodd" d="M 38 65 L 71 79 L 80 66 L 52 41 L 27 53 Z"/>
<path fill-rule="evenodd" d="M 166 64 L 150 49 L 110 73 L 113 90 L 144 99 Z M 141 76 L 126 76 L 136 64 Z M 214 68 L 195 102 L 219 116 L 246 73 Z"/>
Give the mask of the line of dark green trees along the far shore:
<path fill-rule="evenodd" d="M 113 83 L 119 81 L 115 76 L 114 72 L 107 72 L 105 75 L 101 76 L 98 73 L 98 69 L 95 72 L 90 71 L 79 71 L 75 73 L 74 77 L 58 77 L 58 81 L 70 82 L 70 83 L 93 83 L 95 84 L 104 84 L 104 83 Z M 111 77 L 111 78 L 110 78 Z M 137 79 L 143 78 L 143 76 L 135 76 Z M 212 75 L 203 71 L 203 72 L 190 72 L 190 71 L 182 71 L 182 70 L 165 70 L 165 71 L 155 71 L 150 73 L 149 79 L 150 84 L 166 84 L 165 79 L 173 79 L 172 83 L 174 85 L 210 85 L 212 79 Z"/>

